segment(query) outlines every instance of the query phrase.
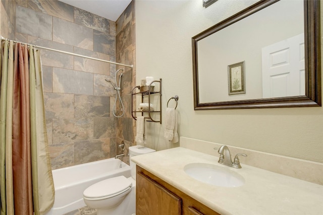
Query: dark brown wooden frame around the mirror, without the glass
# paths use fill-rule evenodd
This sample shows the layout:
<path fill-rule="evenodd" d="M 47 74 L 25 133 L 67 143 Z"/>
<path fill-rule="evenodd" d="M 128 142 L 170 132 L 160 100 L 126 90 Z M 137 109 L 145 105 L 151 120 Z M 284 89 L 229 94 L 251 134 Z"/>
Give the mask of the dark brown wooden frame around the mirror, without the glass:
<path fill-rule="evenodd" d="M 199 102 L 197 42 L 279 0 L 260 1 L 192 38 L 194 110 L 321 106 L 320 3 L 304 0 L 305 95 L 280 98 Z"/>

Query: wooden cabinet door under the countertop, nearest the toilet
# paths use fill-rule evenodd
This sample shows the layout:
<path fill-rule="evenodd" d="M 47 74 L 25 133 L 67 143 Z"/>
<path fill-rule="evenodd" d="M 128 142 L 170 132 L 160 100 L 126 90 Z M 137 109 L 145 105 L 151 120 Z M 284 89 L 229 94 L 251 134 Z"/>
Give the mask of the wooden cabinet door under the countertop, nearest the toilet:
<path fill-rule="evenodd" d="M 182 199 L 137 172 L 136 215 L 181 215 Z"/>

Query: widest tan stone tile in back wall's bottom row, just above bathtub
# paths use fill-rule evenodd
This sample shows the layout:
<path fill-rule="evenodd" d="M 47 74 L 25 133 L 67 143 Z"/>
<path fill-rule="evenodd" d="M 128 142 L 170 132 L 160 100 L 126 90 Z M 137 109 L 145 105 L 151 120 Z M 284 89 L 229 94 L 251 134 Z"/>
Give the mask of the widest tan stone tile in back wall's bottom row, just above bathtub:
<path fill-rule="evenodd" d="M 75 164 L 84 164 L 109 158 L 110 138 L 75 142 L 74 152 Z"/>

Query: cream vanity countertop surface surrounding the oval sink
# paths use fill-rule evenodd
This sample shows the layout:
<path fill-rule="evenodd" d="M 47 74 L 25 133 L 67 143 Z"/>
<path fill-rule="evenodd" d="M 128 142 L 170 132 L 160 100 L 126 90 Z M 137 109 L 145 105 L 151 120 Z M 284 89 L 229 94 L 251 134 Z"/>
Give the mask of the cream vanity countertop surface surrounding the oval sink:
<path fill-rule="evenodd" d="M 241 164 L 235 169 L 218 157 L 182 147 L 132 157 L 155 176 L 221 214 L 323 214 L 323 186 Z M 197 181 L 184 172 L 190 163 L 230 168 L 242 175 L 240 187 L 218 187 Z"/>

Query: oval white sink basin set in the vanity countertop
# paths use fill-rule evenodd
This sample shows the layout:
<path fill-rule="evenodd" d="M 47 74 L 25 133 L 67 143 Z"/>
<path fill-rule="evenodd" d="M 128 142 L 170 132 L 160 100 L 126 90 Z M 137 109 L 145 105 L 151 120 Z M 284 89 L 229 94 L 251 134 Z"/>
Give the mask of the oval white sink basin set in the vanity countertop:
<path fill-rule="evenodd" d="M 244 178 L 230 169 L 213 164 L 192 163 L 184 167 L 190 177 L 220 187 L 239 187 L 245 183 Z"/>

